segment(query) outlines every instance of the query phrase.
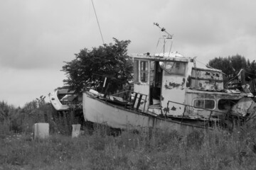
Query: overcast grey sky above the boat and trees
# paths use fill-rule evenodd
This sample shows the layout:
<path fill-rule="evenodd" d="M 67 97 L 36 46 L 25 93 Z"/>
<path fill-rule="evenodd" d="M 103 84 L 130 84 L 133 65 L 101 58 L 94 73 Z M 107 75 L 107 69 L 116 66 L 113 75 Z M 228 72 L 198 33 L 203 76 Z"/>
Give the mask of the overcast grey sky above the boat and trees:
<path fill-rule="evenodd" d="M 254 0 L 93 0 L 105 43 L 131 40 L 129 53 L 151 52 L 163 34 L 172 50 L 207 63 L 256 56 Z M 91 0 L 0 1 L 0 101 L 23 106 L 63 86 L 64 61 L 102 45 Z"/>

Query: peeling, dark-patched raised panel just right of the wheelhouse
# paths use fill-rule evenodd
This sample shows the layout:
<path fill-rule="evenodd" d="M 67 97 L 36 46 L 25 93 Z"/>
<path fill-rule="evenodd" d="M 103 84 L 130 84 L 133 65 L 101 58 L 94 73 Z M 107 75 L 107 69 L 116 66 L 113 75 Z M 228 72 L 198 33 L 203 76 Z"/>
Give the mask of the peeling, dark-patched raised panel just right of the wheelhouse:
<path fill-rule="evenodd" d="M 191 89 L 222 91 L 223 73 L 218 69 L 192 68 Z"/>

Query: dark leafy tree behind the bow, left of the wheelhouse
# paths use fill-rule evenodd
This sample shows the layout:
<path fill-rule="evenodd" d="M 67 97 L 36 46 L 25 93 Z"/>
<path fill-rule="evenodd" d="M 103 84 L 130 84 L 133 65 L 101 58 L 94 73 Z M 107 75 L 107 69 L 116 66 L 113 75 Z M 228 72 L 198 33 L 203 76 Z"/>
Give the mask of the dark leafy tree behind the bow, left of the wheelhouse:
<path fill-rule="evenodd" d="M 114 91 L 119 84 L 132 79 L 132 61 L 127 55 L 130 40 L 113 39 L 114 44 L 92 47 L 92 50 L 84 48 L 75 54 L 74 60 L 65 62 L 61 71 L 68 78 L 63 82 L 70 86 L 70 90 L 79 93 L 84 86 L 91 84 L 101 91 L 107 77 L 107 83 L 112 84 L 110 91 Z"/>

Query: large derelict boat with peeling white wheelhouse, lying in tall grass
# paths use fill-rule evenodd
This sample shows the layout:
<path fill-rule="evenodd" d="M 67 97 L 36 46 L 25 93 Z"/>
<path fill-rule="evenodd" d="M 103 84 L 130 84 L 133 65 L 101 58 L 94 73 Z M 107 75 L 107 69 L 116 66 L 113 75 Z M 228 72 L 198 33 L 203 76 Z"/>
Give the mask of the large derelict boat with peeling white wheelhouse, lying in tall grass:
<path fill-rule="evenodd" d="M 242 91 L 225 90 L 223 72 L 218 69 L 191 69 L 194 60 L 177 53 L 131 55 L 134 60 L 134 89 L 103 96 L 94 90 L 82 95 L 86 121 L 111 128 L 161 128 L 186 130 L 216 123 L 233 125 L 255 113 L 253 98 Z M 124 96 L 124 95 L 123 95 Z"/>

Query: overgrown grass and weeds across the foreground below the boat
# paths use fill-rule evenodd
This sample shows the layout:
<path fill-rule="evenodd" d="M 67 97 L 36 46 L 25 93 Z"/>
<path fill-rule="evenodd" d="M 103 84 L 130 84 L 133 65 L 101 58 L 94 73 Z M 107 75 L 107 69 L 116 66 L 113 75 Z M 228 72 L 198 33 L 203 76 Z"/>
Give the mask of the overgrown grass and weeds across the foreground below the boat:
<path fill-rule="evenodd" d="M 10 118 L 0 125 L 0 169 L 4 170 L 256 169 L 255 128 L 194 130 L 186 136 L 177 131 L 125 130 L 113 136 L 108 135 L 110 129 L 97 126 L 71 138 L 60 135 L 48 118 L 50 137 L 33 140 L 31 125 L 46 118 L 41 115 L 49 115 L 50 108 L 37 106 L 29 113 L 15 109 L 9 106 Z M 16 114 L 23 114 L 22 121 Z"/>

